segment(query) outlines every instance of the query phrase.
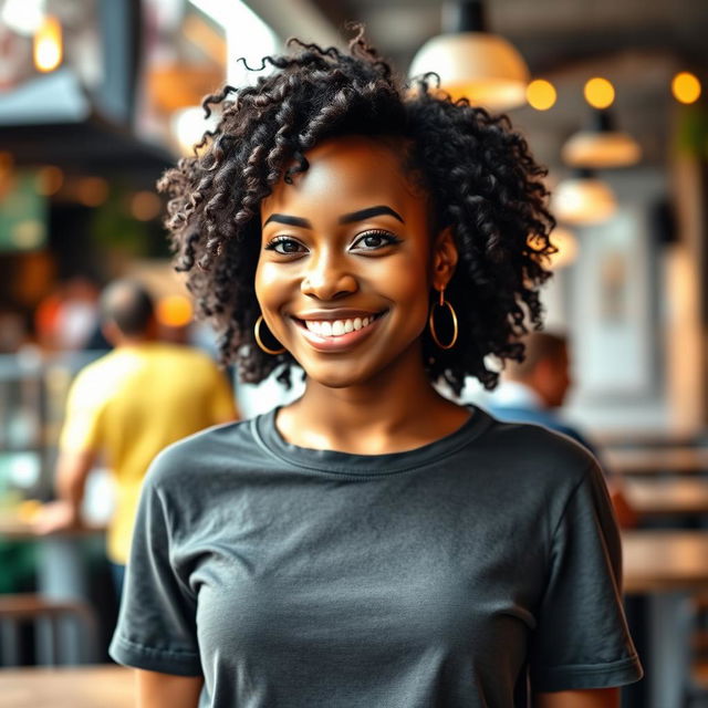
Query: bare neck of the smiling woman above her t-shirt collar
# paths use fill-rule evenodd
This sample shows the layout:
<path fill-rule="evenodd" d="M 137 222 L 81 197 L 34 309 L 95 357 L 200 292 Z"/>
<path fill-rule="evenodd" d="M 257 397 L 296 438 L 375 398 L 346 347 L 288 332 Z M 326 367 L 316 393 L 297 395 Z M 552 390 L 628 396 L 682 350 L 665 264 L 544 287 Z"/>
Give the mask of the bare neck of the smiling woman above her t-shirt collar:
<path fill-rule="evenodd" d="M 375 455 L 437 440 L 468 417 L 435 391 L 416 348 L 355 386 L 331 388 L 310 379 L 303 396 L 280 412 L 278 426 L 302 447 Z"/>

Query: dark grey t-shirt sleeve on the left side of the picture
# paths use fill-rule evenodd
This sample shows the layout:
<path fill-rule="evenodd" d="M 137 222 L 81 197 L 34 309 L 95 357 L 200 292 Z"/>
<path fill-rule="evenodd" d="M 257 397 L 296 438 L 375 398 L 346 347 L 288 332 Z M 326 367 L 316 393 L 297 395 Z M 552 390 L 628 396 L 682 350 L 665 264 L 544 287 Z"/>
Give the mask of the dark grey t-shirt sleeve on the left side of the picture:
<path fill-rule="evenodd" d="M 166 499 L 156 482 L 164 464 L 165 454 L 157 457 L 143 486 L 118 624 L 108 653 L 126 666 L 199 676 L 197 601 L 170 563 Z"/>

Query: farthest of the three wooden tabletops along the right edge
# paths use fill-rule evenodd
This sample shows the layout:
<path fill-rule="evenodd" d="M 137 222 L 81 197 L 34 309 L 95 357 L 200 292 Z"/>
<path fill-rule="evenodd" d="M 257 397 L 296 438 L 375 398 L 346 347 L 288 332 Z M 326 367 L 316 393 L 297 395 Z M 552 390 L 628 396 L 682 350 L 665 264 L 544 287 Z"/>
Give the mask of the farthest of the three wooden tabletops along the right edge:
<path fill-rule="evenodd" d="M 708 448 L 669 447 L 606 450 L 603 459 L 618 475 L 693 475 L 708 472 Z"/>

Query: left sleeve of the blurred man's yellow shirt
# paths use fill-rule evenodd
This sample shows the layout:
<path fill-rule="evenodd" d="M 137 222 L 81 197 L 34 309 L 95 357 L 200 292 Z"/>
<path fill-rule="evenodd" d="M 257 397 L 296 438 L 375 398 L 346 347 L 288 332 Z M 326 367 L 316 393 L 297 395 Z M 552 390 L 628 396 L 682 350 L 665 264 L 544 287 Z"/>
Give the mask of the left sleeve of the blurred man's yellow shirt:
<path fill-rule="evenodd" d="M 69 389 L 59 448 L 66 452 L 85 452 L 101 447 L 101 419 L 105 396 L 92 381 L 90 372 L 81 372 Z"/>

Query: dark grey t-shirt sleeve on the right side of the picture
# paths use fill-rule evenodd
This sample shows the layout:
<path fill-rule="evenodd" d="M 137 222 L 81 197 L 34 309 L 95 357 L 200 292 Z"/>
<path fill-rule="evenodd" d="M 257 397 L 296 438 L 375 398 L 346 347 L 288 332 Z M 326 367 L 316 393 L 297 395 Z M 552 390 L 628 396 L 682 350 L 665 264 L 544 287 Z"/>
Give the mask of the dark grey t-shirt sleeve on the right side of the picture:
<path fill-rule="evenodd" d="M 642 667 L 622 607 L 621 540 L 596 465 L 552 532 L 548 585 L 530 647 L 534 693 L 638 680 Z"/>

